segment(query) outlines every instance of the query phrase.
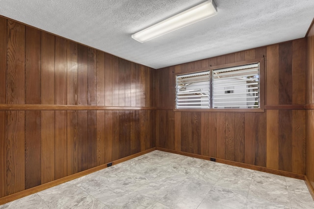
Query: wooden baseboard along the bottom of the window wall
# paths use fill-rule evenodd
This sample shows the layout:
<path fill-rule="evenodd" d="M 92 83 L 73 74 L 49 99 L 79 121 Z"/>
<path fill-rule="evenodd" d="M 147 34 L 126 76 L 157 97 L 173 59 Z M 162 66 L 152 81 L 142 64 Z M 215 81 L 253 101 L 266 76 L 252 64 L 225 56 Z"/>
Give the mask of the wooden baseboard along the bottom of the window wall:
<path fill-rule="evenodd" d="M 165 149 L 162 147 L 157 147 L 156 149 L 160 150 L 160 151 L 164 151 L 164 152 L 170 152 L 170 153 L 175 153 L 175 154 L 179 154 L 179 155 L 185 155 L 185 156 L 189 156 L 189 157 L 193 157 L 193 158 L 199 158 L 199 159 L 208 160 L 208 161 L 211 158 L 211 157 L 204 156 L 204 155 L 198 155 L 198 154 L 192 154 L 192 153 L 187 153 L 187 152 L 182 152 L 182 151 Z M 215 158 L 215 159 L 216 159 L 217 163 L 224 163 L 224 164 L 228 164 L 228 165 L 234 165 L 237 167 L 243 167 L 243 168 L 248 168 L 248 169 L 252 169 L 252 170 L 258 170 L 258 171 L 271 173 L 271 174 L 275 174 L 275 175 L 286 176 L 286 177 L 290 177 L 290 178 L 294 178 L 294 179 L 305 180 L 305 176 L 302 174 L 298 174 L 298 173 L 276 170 L 276 169 L 271 169 L 271 168 L 266 168 L 266 167 L 261 167 L 261 166 L 257 166 L 257 165 L 251 165 L 251 164 L 238 163 L 238 162 L 234 162 L 234 161 L 222 160 L 219 158 Z"/>

